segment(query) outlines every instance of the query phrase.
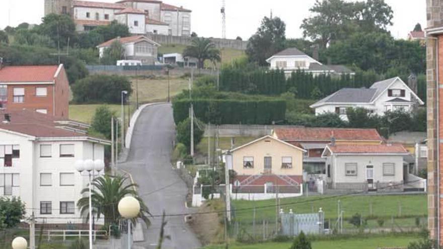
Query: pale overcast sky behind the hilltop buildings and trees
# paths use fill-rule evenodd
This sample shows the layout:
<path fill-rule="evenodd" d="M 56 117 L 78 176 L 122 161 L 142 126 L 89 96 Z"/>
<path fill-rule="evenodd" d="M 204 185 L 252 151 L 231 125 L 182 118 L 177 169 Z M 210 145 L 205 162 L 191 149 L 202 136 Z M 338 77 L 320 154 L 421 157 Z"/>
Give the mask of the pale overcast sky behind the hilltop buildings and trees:
<path fill-rule="evenodd" d="M 117 0 L 96 0 L 114 3 Z M 406 38 L 416 23 L 426 26 L 424 0 L 385 0 L 394 10 L 394 25 L 389 28 L 396 38 Z M 199 36 L 221 37 L 221 0 L 164 0 L 164 3 L 192 10 L 191 29 Z M 315 0 L 226 0 L 227 38 L 248 39 L 255 33 L 264 16 L 272 10 L 286 23 L 286 37 L 300 38 L 300 25 L 310 16 Z M 44 0 L 0 0 L 0 29 L 22 22 L 40 23 Z"/>

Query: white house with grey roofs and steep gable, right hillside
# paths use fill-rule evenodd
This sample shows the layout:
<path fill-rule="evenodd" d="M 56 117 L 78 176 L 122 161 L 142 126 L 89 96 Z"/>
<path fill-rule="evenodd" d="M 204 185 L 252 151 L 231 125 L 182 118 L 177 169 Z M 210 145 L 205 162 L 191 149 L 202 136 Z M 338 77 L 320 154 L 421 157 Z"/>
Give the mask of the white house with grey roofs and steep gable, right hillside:
<path fill-rule="evenodd" d="M 384 115 L 386 111 L 410 111 L 423 101 L 401 80 L 394 77 L 375 82 L 370 88 L 344 88 L 314 103 L 315 114 L 335 112 L 347 120 L 346 109 L 365 108 L 371 113 Z"/>

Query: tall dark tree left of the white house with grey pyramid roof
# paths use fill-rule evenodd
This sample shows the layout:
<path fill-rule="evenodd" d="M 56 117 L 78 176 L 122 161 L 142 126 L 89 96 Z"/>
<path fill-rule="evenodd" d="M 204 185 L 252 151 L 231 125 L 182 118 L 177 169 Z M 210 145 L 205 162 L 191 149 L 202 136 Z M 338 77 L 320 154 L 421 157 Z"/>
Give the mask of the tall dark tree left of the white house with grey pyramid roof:
<path fill-rule="evenodd" d="M 284 49 L 286 25 L 280 18 L 264 17 L 257 32 L 249 38 L 246 54 L 249 61 L 267 65 L 266 59 Z"/>

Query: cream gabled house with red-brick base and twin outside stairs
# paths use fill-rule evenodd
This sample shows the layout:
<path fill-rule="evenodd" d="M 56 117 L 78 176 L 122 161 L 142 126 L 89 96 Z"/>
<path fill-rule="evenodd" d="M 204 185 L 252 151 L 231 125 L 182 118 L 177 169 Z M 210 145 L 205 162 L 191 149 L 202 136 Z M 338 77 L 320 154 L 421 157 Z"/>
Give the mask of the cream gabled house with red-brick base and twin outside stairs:
<path fill-rule="evenodd" d="M 301 193 L 304 149 L 264 136 L 230 152 L 237 173 L 233 193 Z"/>

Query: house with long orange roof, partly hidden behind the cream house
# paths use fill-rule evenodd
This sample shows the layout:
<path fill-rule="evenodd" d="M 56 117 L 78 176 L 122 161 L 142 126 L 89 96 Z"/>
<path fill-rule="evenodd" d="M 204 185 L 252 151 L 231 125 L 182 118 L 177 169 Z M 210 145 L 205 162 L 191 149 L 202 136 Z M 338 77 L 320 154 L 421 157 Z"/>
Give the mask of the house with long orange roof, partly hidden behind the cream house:
<path fill-rule="evenodd" d="M 384 141 L 376 129 L 354 128 L 278 128 L 272 131 L 272 136 L 305 149 L 305 181 L 326 175 L 326 158 L 322 153 L 332 141 L 336 144 L 381 144 Z"/>

